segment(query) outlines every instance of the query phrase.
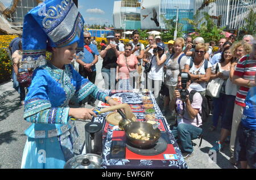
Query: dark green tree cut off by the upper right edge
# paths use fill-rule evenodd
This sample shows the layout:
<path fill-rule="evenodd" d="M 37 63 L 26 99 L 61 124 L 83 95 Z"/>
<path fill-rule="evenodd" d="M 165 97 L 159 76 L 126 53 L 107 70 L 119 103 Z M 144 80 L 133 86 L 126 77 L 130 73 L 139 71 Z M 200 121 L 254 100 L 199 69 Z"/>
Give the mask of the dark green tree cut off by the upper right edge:
<path fill-rule="evenodd" d="M 241 27 L 247 35 L 255 35 L 255 26 L 256 26 L 256 12 L 253 9 L 250 9 L 248 16 L 245 18 L 245 24 Z"/>

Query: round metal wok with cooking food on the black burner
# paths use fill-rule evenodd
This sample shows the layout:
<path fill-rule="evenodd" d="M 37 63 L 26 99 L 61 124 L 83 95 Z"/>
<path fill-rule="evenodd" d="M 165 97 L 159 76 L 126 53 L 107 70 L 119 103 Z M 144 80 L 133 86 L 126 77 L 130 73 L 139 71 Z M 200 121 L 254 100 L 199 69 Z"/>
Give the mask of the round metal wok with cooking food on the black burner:
<path fill-rule="evenodd" d="M 159 128 L 153 128 L 153 126 L 147 122 L 131 122 L 125 126 L 124 130 L 126 135 L 126 143 L 130 143 L 134 147 L 141 149 L 154 147 L 161 135 Z M 131 132 L 139 134 L 140 131 L 144 132 L 145 134 L 150 134 L 150 140 L 135 139 L 129 135 Z"/>

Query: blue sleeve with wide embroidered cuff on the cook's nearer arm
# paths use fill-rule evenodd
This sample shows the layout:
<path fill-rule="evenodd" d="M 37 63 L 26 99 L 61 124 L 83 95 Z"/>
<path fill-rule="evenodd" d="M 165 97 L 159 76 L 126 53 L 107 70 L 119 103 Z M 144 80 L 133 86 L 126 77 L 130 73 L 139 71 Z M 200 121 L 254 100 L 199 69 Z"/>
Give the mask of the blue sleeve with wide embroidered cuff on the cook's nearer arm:
<path fill-rule="evenodd" d="M 47 76 L 35 70 L 26 96 L 23 118 L 32 123 L 67 124 L 69 108 L 53 108 L 47 95 Z"/>

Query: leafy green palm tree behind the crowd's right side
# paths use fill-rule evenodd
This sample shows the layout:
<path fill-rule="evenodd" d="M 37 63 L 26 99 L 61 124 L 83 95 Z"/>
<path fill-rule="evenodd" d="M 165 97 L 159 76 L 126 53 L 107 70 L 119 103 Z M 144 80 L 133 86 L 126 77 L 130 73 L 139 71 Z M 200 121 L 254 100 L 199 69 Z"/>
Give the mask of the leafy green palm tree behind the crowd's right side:
<path fill-rule="evenodd" d="M 226 27 L 219 28 L 207 12 L 203 12 L 204 18 L 201 19 L 198 19 L 197 15 L 198 14 L 194 15 L 193 20 L 184 18 L 184 20 L 191 24 L 195 29 L 195 33 L 192 34 L 192 38 L 201 36 L 204 38 L 205 42 L 218 42 L 220 38 L 225 38 L 222 33 Z M 201 25 L 199 26 L 199 24 Z"/>

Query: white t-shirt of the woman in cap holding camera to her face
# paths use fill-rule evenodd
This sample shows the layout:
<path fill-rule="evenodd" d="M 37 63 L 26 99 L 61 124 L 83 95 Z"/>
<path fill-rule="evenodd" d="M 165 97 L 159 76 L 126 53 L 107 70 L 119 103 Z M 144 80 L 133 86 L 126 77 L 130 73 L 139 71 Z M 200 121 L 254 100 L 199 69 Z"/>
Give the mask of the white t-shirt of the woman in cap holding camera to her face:
<path fill-rule="evenodd" d="M 166 54 L 163 54 L 161 58 L 164 58 L 164 56 L 166 56 Z M 150 72 L 148 72 L 147 77 L 152 79 L 152 80 L 163 80 L 163 66 L 164 66 L 164 63 L 162 63 L 162 65 L 158 66 L 158 64 L 156 63 L 156 57 L 155 56 L 152 58 L 151 61 L 152 61 L 151 70 L 150 70 Z"/>

